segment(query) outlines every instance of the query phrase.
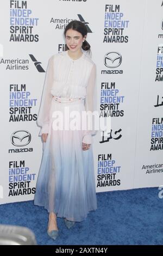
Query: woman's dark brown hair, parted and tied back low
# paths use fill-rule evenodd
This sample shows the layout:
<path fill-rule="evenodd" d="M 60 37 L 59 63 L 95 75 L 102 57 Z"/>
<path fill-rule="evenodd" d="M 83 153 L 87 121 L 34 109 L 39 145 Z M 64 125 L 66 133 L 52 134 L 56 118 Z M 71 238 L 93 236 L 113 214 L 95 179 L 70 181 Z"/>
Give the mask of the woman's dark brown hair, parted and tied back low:
<path fill-rule="evenodd" d="M 68 23 L 67 26 L 66 26 L 66 28 L 65 28 L 65 31 L 64 31 L 65 37 L 66 37 L 66 32 L 67 32 L 67 30 L 68 30 L 68 29 L 71 29 L 71 28 L 72 28 L 73 30 L 75 30 L 75 31 L 78 31 L 80 34 L 83 35 L 83 37 L 84 37 L 85 35 L 87 35 L 87 28 L 86 28 L 86 26 L 83 24 L 82 21 L 71 21 L 70 23 Z M 83 45 L 82 45 L 82 49 L 83 49 L 84 51 L 89 51 L 89 53 L 91 54 L 90 48 L 91 48 L 90 44 L 89 44 L 86 40 L 84 40 Z M 69 50 L 69 48 L 67 47 L 67 45 L 66 45 L 66 47 L 65 47 L 65 50 Z"/>

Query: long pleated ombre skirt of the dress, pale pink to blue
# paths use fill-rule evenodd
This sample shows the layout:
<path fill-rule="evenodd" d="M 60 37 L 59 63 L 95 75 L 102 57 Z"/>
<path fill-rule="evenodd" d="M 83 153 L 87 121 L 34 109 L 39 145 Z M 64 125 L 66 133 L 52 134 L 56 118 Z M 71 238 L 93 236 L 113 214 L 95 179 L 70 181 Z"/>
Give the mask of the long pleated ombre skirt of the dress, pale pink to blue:
<path fill-rule="evenodd" d="M 52 99 L 51 120 L 36 184 L 34 204 L 69 221 L 85 220 L 97 209 L 92 145 L 82 149 L 82 130 L 54 130 L 52 113 L 65 106 L 69 111 L 84 111 L 83 99 L 64 103 Z"/>

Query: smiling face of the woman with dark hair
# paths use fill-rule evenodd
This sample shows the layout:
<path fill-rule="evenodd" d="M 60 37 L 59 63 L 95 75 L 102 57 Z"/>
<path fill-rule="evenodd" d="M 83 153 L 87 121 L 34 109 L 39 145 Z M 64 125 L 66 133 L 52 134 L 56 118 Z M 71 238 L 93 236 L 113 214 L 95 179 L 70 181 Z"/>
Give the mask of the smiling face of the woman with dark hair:
<path fill-rule="evenodd" d="M 66 32 L 66 44 L 71 52 L 81 51 L 83 41 L 83 35 L 72 28 L 68 29 Z"/>

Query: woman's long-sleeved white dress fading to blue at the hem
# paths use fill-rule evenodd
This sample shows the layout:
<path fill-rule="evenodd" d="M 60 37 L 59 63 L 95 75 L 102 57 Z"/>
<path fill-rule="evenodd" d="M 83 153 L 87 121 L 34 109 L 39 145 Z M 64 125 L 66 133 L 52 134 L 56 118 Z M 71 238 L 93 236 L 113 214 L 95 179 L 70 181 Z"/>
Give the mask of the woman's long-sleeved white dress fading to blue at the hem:
<path fill-rule="evenodd" d="M 93 111 L 96 65 L 86 54 L 73 60 L 68 51 L 49 58 L 37 124 L 48 133 L 34 204 L 69 221 L 83 221 L 97 209 L 92 153 L 93 130 L 53 129 L 54 113 Z M 91 144 L 83 150 L 82 142 Z"/>

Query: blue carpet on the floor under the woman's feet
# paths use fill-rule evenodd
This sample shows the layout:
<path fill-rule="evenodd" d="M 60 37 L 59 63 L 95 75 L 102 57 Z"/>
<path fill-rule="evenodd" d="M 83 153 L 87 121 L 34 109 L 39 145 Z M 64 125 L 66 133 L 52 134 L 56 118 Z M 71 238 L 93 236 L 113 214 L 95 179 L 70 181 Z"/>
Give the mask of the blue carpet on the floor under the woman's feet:
<path fill-rule="evenodd" d="M 33 230 L 38 245 L 162 245 L 163 199 L 158 188 L 97 193 L 96 211 L 67 229 L 57 218 L 60 236 L 46 233 L 48 213 L 33 201 L 0 205 L 1 224 Z"/>

